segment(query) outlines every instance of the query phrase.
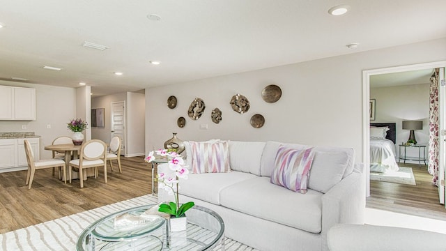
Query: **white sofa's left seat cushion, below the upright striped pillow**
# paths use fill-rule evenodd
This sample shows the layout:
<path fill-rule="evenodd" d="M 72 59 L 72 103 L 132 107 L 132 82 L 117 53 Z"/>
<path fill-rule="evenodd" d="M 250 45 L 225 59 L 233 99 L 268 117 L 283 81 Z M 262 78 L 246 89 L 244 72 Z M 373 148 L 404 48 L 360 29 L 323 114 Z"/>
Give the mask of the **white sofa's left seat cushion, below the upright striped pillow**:
<path fill-rule="evenodd" d="M 180 180 L 180 194 L 220 205 L 220 191 L 233 184 L 258 176 L 244 172 L 189 174 Z"/>

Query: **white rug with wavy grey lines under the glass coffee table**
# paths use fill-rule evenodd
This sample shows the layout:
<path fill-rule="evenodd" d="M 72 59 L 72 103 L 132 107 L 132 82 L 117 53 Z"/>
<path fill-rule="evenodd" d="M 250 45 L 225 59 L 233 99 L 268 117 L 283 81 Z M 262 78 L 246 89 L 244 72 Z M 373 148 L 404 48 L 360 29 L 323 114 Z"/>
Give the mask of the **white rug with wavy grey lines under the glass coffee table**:
<path fill-rule="evenodd" d="M 117 211 L 146 204 L 157 204 L 157 197 L 144 195 L 15 231 L 9 231 L 8 233 L 0 234 L 0 250 L 75 251 L 77 237 L 83 229 L 95 222 L 95 220 Z M 254 248 L 233 241 L 230 238 L 225 238 L 224 245 L 225 250 L 229 251 L 256 251 Z M 221 250 L 220 245 L 214 250 Z"/>

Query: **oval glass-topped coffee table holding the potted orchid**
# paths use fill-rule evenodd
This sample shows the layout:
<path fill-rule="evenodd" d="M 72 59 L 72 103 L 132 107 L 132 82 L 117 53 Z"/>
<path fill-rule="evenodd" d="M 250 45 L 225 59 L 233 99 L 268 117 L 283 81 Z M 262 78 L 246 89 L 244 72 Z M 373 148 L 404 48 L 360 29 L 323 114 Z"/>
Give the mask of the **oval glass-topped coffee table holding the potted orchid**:
<path fill-rule="evenodd" d="M 100 218 L 82 231 L 76 250 L 212 250 L 219 244 L 224 250 L 224 222 L 214 211 L 195 205 L 186 212 L 187 229 L 169 232 L 165 218 L 141 218 L 153 206 L 138 206 Z M 143 220 L 114 226 L 115 218 L 124 214 Z"/>

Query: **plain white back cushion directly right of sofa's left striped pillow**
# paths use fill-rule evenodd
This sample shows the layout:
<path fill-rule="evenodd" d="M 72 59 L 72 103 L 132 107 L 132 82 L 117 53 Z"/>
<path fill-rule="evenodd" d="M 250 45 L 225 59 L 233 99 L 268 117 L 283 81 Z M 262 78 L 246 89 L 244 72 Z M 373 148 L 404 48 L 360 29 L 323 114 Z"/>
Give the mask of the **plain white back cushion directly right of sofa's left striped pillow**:
<path fill-rule="evenodd" d="M 229 142 L 231 170 L 260 176 L 260 160 L 265 142 Z"/>

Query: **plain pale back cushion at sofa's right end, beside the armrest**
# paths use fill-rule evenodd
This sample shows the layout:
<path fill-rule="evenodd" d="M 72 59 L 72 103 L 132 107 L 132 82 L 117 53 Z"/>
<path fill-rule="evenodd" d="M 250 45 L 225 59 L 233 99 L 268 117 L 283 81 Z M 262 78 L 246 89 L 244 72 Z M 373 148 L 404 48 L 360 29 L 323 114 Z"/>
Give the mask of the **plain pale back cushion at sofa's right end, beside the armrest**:
<path fill-rule="evenodd" d="M 330 153 L 315 151 L 312 169 L 309 171 L 308 188 L 328 192 L 341 181 L 347 167 L 348 155 L 345 152 Z"/>

